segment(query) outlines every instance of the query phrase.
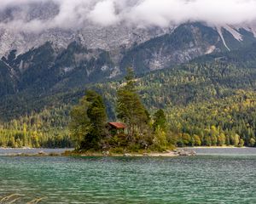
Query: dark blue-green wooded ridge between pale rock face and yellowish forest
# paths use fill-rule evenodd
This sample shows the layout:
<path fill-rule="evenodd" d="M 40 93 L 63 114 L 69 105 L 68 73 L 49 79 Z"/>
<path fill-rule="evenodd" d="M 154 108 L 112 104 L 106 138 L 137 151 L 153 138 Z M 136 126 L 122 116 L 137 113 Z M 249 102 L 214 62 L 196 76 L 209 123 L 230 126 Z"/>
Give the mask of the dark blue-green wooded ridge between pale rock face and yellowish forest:
<path fill-rule="evenodd" d="M 234 37 L 222 28 L 221 33 L 225 44 L 219 31 L 211 26 L 189 23 L 146 42 L 133 43 L 129 48 L 88 48 L 82 39 L 76 38 L 66 48 L 56 48 L 54 42 L 47 41 L 24 54 L 10 50 L 0 59 L 0 101 L 8 106 L 2 108 L 3 115 L 8 112 L 5 110 L 15 105 L 15 101 L 20 100 L 18 98 L 22 98 L 21 103 L 30 104 L 31 108 L 22 105 L 23 111 L 15 116 L 31 110 L 40 111 L 52 105 L 51 97 L 62 95 L 62 101 L 67 95 L 69 99 L 68 95 L 73 90 L 79 90 L 81 95 L 81 90 L 93 83 L 123 77 L 127 67 L 133 67 L 138 76 L 151 71 L 172 70 L 177 65 L 190 62 L 218 59 L 241 67 L 252 67 L 256 56 L 253 32 L 240 29 L 240 36 L 236 33 Z"/>

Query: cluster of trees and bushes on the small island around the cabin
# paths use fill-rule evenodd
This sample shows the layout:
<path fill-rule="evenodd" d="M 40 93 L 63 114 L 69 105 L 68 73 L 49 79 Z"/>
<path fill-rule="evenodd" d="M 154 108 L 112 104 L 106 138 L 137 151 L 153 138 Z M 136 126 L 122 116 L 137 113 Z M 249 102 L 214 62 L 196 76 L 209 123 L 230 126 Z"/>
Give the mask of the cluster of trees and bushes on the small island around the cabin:
<path fill-rule="evenodd" d="M 163 110 L 151 118 L 137 94 L 134 73 L 127 69 L 125 83 L 117 93 L 116 115 L 125 123 L 125 131 L 111 133 L 102 96 L 88 90 L 71 112 L 70 132 L 77 150 L 166 150 L 168 141 L 166 116 Z"/>

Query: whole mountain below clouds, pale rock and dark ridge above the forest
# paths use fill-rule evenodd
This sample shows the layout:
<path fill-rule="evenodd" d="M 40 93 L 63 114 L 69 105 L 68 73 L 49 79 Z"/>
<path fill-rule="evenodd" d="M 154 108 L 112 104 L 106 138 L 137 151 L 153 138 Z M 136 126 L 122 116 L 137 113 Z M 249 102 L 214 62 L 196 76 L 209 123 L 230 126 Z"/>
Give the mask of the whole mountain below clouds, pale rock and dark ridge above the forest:
<path fill-rule="evenodd" d="M 195 22 L 160 28 L 88 22 L 82 28 L 20 31 L 5 23 L 23 18 L 24 9 L 29 22 L 48 22 L 59 12 L 52 1 L 0 11 L 0 115 L 4 119 L 41 111 L 53 105 L 51 97 L 62 101 L 77 90 L 76 95 L 81 95 L 92 83 L 123 77 L 130 66 L 140 76 L 186 63 L 221 60 L 253 67 L 255 62 L 253 26 Z M 19 111 L 14 112 L 14 106 Z"/>

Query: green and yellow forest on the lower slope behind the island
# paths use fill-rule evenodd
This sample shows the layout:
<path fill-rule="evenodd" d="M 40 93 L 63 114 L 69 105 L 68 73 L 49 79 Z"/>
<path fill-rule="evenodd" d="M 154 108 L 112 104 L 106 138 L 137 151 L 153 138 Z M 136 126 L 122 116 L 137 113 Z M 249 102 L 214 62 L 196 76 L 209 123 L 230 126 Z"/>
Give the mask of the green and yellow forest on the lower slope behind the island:
<path fill-rule="evenodd" d="M 137 75 L 132 82 L 139 101 L 148 112 L 149 130 L 146 127 L 136 129 L 150 132 L 148 144 L 152 148 L 156 130 L 164 141 L 158 146 L 160 149 L 193 145 L 255 146 L 255 71 L 255 68 L 213 60 Z M 125 79 L 90 84 L 70 94 L 48 97 L 50 105 L 40 111 L 27 111 L 25 116 L 1 122 L 0 145 L 75 146 L 69 130 L 72 122 L 70 112 L 74 105 L 79 104 L 84 89 L 85 93 L 86 90 L 94 90 L 102 96 L 102 103 L 106 106 L 105 122 L 125 122 L 117 111 L 119 89 L 125 84 Z M 166 117 L 165 127 L 162 127 L 164 131 L 153 125 L 156 121 L 154 115 L 160 110 Z M 134 145 L 132 148 L 137 149 Z"/>

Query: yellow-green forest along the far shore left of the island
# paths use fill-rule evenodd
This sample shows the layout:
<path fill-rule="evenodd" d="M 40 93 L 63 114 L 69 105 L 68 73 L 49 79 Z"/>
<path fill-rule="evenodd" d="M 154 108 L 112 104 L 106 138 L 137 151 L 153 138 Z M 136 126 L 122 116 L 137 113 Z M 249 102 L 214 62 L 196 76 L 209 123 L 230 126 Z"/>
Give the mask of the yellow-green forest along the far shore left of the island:
<path fill-rule="evenodd" d="M 72 147 L 67 129 L 70 107 L 44 109 L 10 122 L 0 124 L 0 146 L 2 147 Z"/>

